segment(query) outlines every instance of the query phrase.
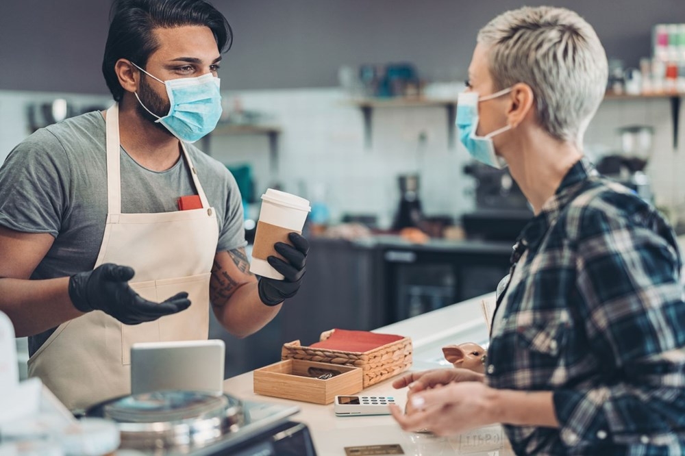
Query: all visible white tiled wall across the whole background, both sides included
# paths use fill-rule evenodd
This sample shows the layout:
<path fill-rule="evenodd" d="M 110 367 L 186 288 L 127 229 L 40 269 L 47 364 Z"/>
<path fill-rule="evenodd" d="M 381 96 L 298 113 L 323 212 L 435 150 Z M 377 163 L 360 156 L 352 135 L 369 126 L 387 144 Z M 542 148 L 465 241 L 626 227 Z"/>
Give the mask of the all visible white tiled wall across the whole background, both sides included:
<path fill-rule="evenodd" d="M 65 97 L 77 106 L 107 105 L 105 96 L 0 91 L 0 160 L 28 134 L 26 107 L 34 101 Z M 397 175 L 421 175 L 421 199 L 428 215 L 457 217 L 473 208 L 473 179 L 462 173 L 467 154 L 447 146 L 447 113 L 442 107 L 383 107 L 373 111 L 373 144 L 364 144 L 362 112 L 338 88 L 225 92 L 227 108 L 236 97 L 245 110 L 269 113 L 279 125 L 276 162 L 266 136 L 220 136 L 210 153 L 225 164 L 250 163 L 256 190 L 280 183 L 284 190 L 314 198 L 323 189 L 333 218 L 344 213 L 375 214 L 390 223 L 397 200 Z M 673 151 L 669 99 L 608 100 L 586 134 L 589 155 L 618 149 L 616 128 L 646 124 L 656 128 L 655 157 L 647 168 L 657 203 L 685 203 L 685 115 L 680 148 Z M 425 143 L 419 135 L 425 134 Z M 457 141 L 458 143 L 458 141 Z"/>

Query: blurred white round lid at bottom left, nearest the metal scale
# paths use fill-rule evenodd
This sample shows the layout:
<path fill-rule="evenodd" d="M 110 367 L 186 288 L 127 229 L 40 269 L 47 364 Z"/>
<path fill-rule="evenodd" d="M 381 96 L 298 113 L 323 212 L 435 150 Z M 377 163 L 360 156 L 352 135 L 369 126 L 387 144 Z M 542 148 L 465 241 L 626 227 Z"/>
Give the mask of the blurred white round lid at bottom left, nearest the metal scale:
<path fill-rule="evenodd" d="M 119 448 L 119 428 L 112 420 L 82 418 L 60 435 L 62 448 L 68 456 L 101 456 Z"/>

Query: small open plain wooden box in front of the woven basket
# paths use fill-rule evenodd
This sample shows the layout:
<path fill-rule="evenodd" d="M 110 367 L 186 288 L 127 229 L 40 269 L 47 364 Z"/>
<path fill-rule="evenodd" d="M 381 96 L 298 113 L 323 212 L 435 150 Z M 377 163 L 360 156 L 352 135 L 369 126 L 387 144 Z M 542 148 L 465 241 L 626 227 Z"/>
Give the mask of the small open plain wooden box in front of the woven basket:
<path fill-rule="evenodd" d="M 337 370 L 339 375 L 317 379 L 308 373 L 310 367 Z M 286 359 L 253 372 L 254 392 L 295 401 L 330 404 L 336 394 L 356 394 L 362 390 L 362 369 L 327 363 Z"/>

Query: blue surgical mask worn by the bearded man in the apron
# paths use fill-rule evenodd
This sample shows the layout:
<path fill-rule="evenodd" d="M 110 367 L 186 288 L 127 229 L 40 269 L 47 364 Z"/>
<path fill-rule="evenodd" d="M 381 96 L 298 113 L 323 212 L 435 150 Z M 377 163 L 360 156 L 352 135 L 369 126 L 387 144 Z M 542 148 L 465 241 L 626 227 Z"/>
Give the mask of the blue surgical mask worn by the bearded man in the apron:
<path fill-rule="evenodd" d="M 169 114 L 164 117 L 160 117 L 147 109 L 140 101 L 138 92 L 136 92 L 136 98 L 147 112 L 158 119 L 157 122 L 171 131 L 173 136 L 185 142 L 195 142 L 216 128 L 216 123 L 221 118 L 221 92 L 218 77 L 214 77 L 212 73 L 207 73 L 199 77 L 162 81 L 140 66 L 136 64 L 134 66 L 166 86 L 166 94 L 169 95 L 171 109 Z"/>

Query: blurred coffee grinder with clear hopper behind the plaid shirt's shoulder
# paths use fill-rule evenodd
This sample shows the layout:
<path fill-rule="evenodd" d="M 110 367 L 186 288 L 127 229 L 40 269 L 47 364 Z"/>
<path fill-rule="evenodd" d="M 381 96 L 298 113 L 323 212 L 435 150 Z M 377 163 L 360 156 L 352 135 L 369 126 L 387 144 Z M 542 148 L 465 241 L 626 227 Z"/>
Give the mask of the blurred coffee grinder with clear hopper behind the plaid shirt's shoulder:
<path fill-rule="evenodd" d="M 617 130 L 621 150 L 601 157 L 597 163 L 599 173 L 619 181 L 638 196 L 653 203 L 649 177 L 645 168 L 653 152 L 654 129 L 649 125 L 630 125 Z"/>

